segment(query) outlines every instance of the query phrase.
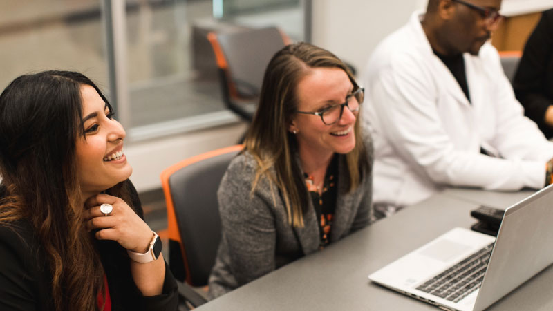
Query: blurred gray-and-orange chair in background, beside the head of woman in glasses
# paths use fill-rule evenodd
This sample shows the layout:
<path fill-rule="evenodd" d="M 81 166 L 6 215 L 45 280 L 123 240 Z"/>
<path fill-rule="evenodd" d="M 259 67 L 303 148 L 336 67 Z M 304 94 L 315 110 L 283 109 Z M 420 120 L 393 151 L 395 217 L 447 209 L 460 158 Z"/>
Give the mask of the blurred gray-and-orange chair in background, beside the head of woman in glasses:
<path fill-rule="evenodd" d="M 276 27 L 209 32 L 207 39 L 214 50 L 225 105 L 251 122 L 265 68 L 274 53 L 290 44 L 290 39 Z"/>

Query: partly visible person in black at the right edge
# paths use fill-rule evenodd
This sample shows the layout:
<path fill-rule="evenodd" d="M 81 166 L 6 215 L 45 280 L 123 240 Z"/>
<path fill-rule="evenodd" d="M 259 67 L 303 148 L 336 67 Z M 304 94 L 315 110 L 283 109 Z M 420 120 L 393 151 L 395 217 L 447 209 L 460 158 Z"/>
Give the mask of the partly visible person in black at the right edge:
<path fill-rule="evenodd" d="M 524 114 L 553 138 L 553 9 L 543 12 L 526 41 L 513 88 Z"/>

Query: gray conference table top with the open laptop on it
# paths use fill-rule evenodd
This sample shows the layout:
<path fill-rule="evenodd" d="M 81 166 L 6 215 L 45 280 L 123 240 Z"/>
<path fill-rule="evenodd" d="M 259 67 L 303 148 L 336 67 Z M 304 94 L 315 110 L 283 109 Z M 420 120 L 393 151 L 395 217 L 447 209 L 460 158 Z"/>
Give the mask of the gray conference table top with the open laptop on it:
<path fill-rule="evenodd" d="M 529 194 L 447 189 L 197 310 L 439 310 L 375 285 L 367 276 L 452 227 L 469 228 L 475 223 L 469 211 L 478 205 L 504 207 Z M 553 268 L 548 267 L 488 310 L 553 310 L 552 283 Z"/>

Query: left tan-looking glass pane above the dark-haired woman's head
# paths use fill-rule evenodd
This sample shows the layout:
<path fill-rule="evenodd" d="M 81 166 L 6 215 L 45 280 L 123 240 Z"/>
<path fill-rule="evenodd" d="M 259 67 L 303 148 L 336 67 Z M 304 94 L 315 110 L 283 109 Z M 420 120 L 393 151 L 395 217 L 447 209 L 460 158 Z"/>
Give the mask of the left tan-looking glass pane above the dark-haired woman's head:
<path fill-rule="evenodd" d="M 79 70 L 108 86 L 98 0 L 0 1 L 0 89 L 24 73 Z"/>

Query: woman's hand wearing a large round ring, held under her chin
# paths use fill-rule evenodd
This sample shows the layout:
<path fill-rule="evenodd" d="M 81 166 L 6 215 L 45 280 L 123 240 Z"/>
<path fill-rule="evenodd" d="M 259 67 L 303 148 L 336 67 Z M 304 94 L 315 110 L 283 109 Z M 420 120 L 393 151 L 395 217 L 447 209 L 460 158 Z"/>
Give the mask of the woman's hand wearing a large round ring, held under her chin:
<path fill-rule="evenodd" d="M 111 204 L 113 211 L 104 216 L 100 205 Z M 122 247 L 133 252 L 144 253 L 149 249 L 153 234 L 150 227 L 124 200 L 108 194 L 97 194 L 84 202 L 84 223 L 88 232 L 100 229 L 95 236 L 98 240 L 117 241 Z"/>

